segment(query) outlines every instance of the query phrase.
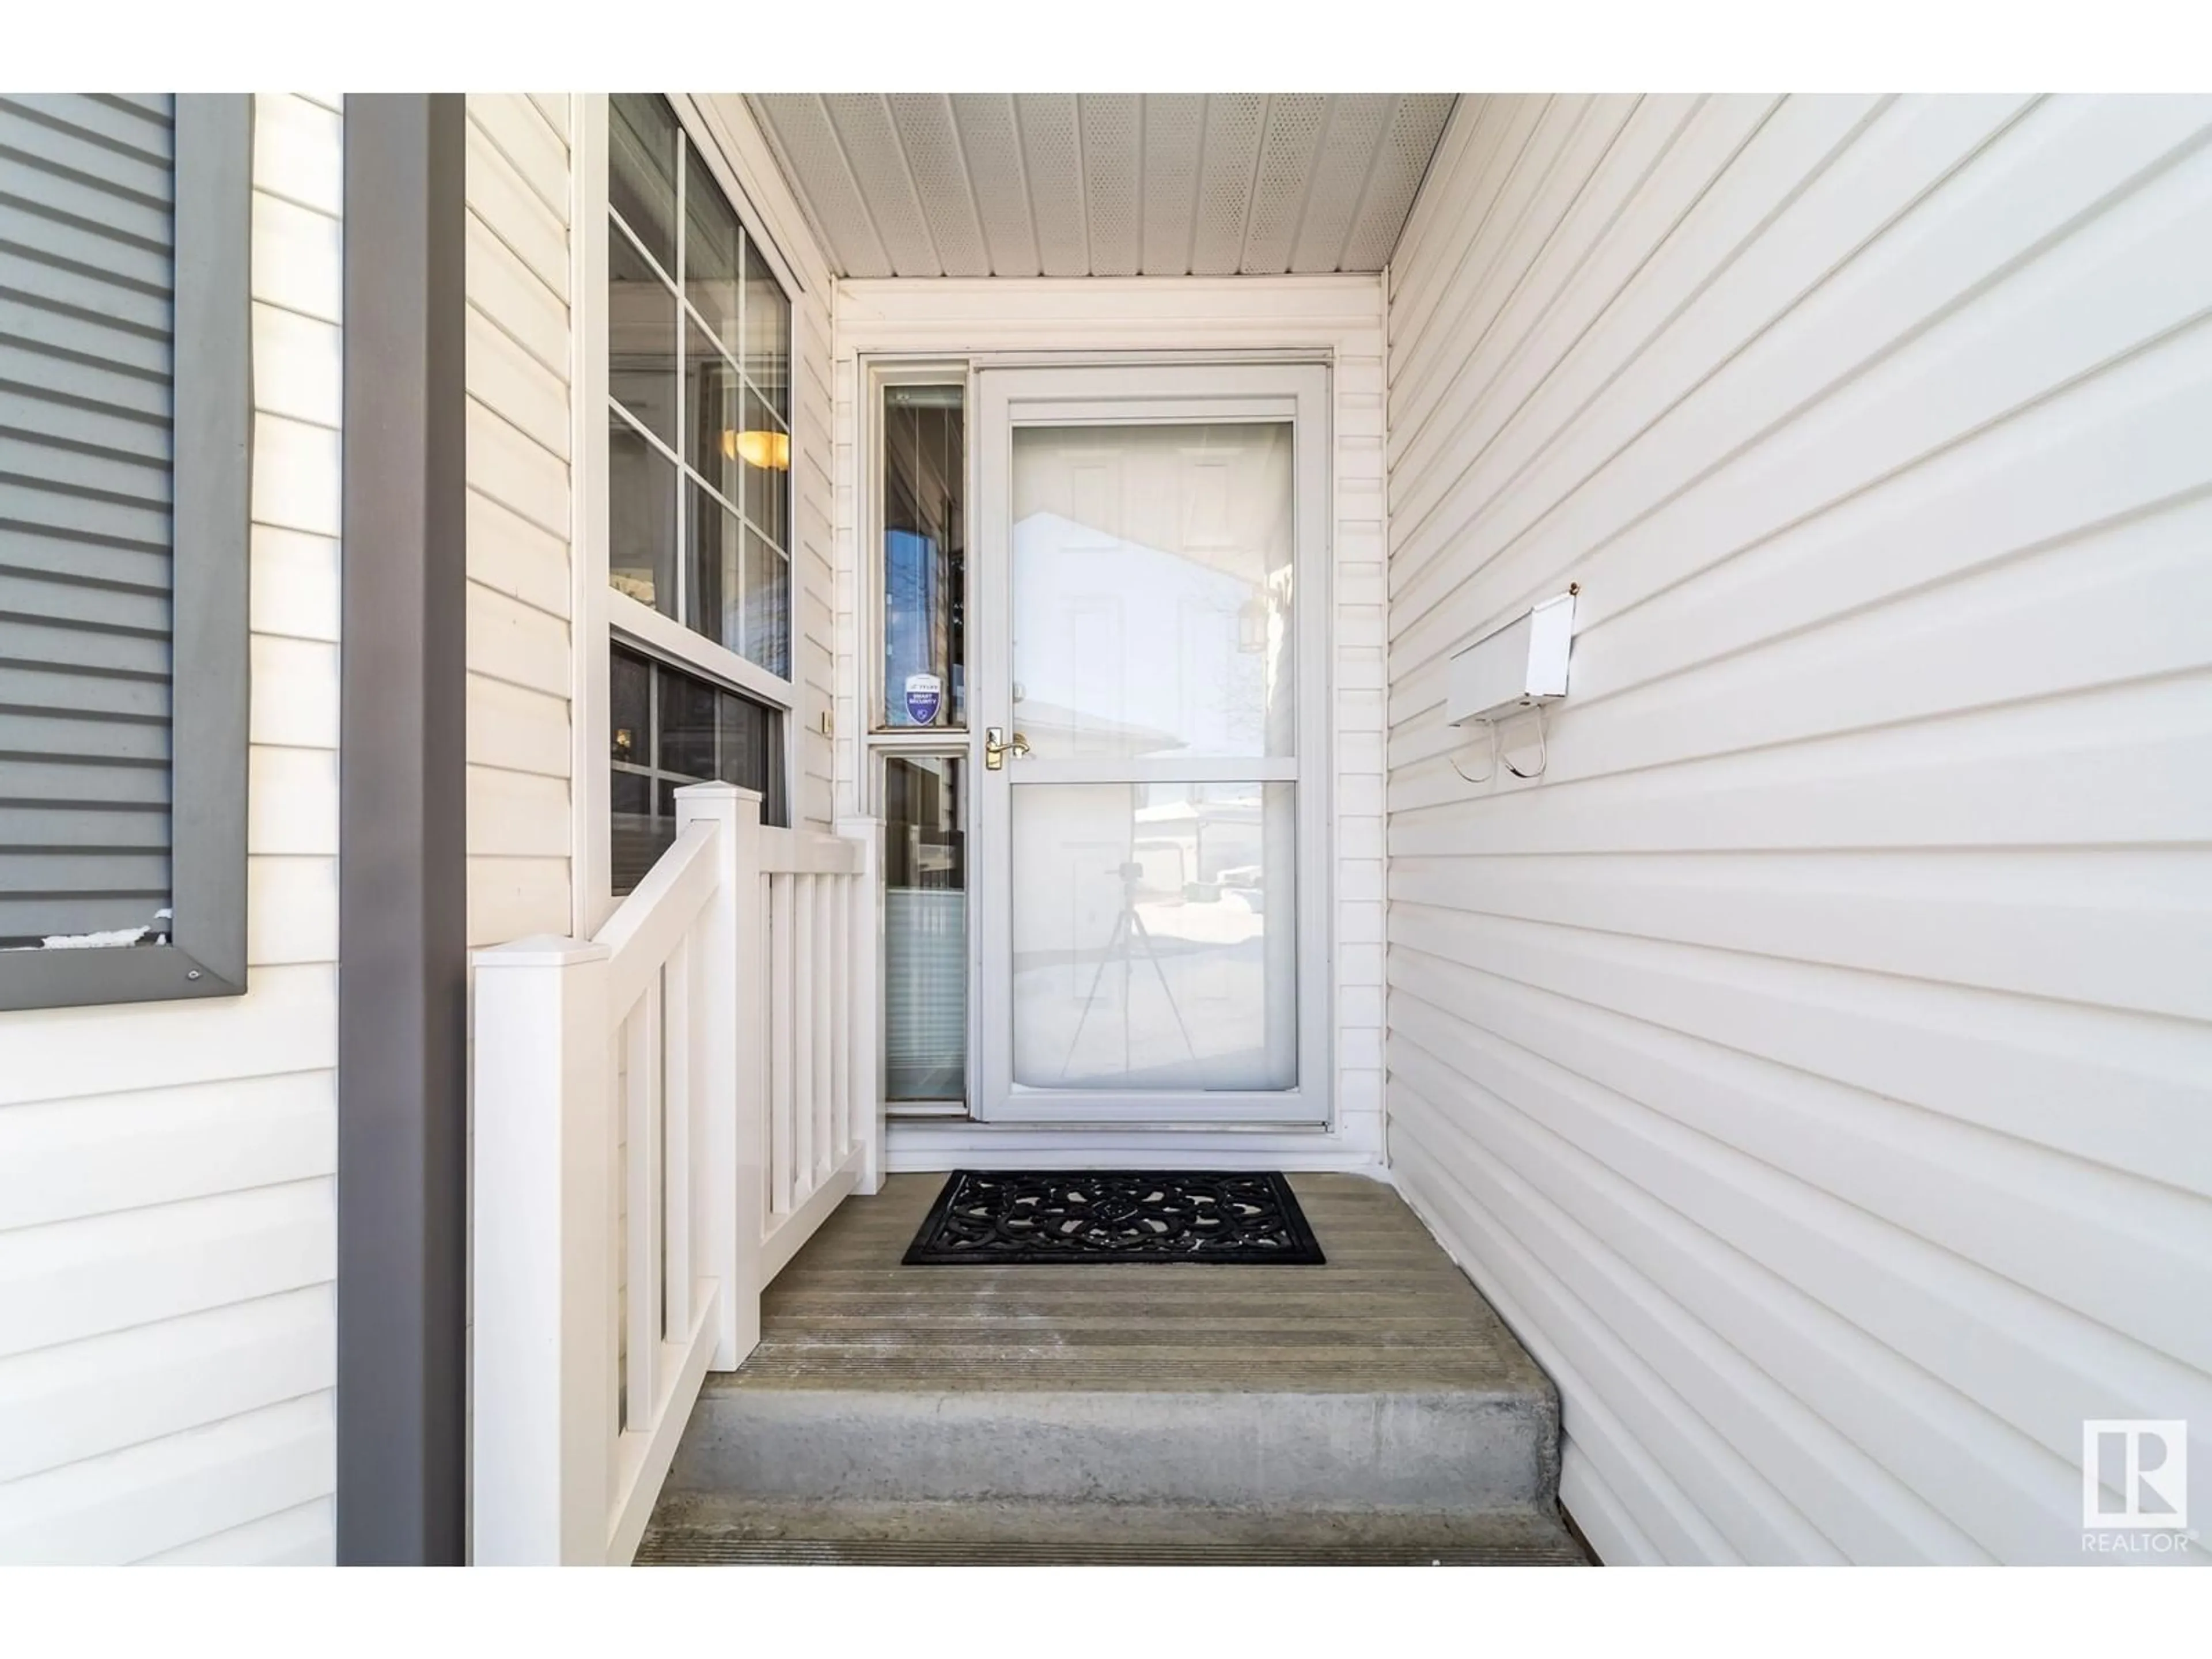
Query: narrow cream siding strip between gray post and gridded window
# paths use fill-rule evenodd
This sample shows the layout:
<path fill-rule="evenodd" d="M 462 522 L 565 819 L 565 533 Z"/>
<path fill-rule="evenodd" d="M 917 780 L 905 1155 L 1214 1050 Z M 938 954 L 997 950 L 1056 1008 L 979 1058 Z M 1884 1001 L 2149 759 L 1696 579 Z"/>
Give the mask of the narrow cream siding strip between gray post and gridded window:
<path fill-rule="evenodd" d="M 573 925 L 568 97 L 469 93 L 469 945 Z"/>

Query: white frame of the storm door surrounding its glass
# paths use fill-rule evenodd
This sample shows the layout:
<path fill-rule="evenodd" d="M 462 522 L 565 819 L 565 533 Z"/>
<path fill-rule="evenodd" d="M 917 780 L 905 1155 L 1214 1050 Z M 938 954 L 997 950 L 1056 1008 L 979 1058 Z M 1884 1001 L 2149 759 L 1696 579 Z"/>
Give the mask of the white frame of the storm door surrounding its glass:
<path fill-rule="evenodd" d="M 1013 929 L 1006 772 L 989 772 L 980 752 L 971 768 L 971 891 L 980 945 L 975 975 L 973 1108 L 987 1124 L 1079 1126 L 1327 1126 L 1334 1106 L 1332 1004 L 1334 962 L 1334 772 L 1329 710 L 1332 644 L 1332 502 L 1334 434 L 1329 369 L 1318 363 L 991 367 L 975 376 L 969 440 L 978 453 L 978 526 L 971 553 L 975 628 L 969 635 L 969 732 L 1013 726 L 1009 697 L 1009 544 L 1011 434 L 1015 425 L 1115 425 L 1161 420 L 1290 420 L 1296 489 L 1296 763 L 1179 763 L 1190 776 L 1298 779 L 1298 1086 L 1287 1091 L 1161 1091 L 1117 1099 L 1102 1091 L 1042 1091 L 1013 1084 L 1011 960 Z M 980 737 L 978 737 L 980 741 Z M 1015 761 L 1011 765 L 1029 765 Z M 1075 772 L 1037 763 L 1024 781 L 1048 783 Z"/>

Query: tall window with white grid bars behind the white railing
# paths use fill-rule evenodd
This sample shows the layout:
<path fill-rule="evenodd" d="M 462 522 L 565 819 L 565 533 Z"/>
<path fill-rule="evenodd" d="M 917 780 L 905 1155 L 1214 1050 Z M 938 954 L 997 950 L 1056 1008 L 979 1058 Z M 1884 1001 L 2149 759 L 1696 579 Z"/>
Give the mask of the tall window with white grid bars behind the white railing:
<path fill-rule="evenodd" d="M 611 95 L 606 155 L 608 582 L 790 679 L 790 299 L 668 100 Z M 617 684 L 641 666 L 617 648 Z M 650 686 L 653 708 L 688 697 L 759 734 L 664 768 L 639 748 L 659 721 L 611 723 L 615 841 L 628 849 L 615 891 L 672 838 L 677 779 L 743 783 L 770 823 L 785 814 L 783 710 L 672 664 L 655 664 Z"/>

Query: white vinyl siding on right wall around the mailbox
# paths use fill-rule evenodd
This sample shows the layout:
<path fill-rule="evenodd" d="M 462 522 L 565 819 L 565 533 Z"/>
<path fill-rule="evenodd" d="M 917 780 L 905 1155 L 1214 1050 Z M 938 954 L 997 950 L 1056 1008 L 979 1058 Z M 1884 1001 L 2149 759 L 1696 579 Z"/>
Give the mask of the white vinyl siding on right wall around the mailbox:
<path fill-rule="evenodd" d="M 2208 142 L 1489 97 L 1431 168 L 1389 1152 L 1608 1562 L 2079 1562 L 2084 1418 L 2212 1467 Z M 1568 582 L 1548 772 L 1464 783 L 1449 653 Z"/>

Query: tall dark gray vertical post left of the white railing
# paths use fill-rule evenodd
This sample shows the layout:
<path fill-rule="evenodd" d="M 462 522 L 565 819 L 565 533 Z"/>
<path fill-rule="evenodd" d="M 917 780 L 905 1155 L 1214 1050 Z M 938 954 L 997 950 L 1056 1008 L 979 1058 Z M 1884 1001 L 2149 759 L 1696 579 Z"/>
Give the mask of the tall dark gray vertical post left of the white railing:
<path fill-rule="evenodd" d="M 338 1559 L 465 1557 L 460 95 L 345 100 Z"/>

